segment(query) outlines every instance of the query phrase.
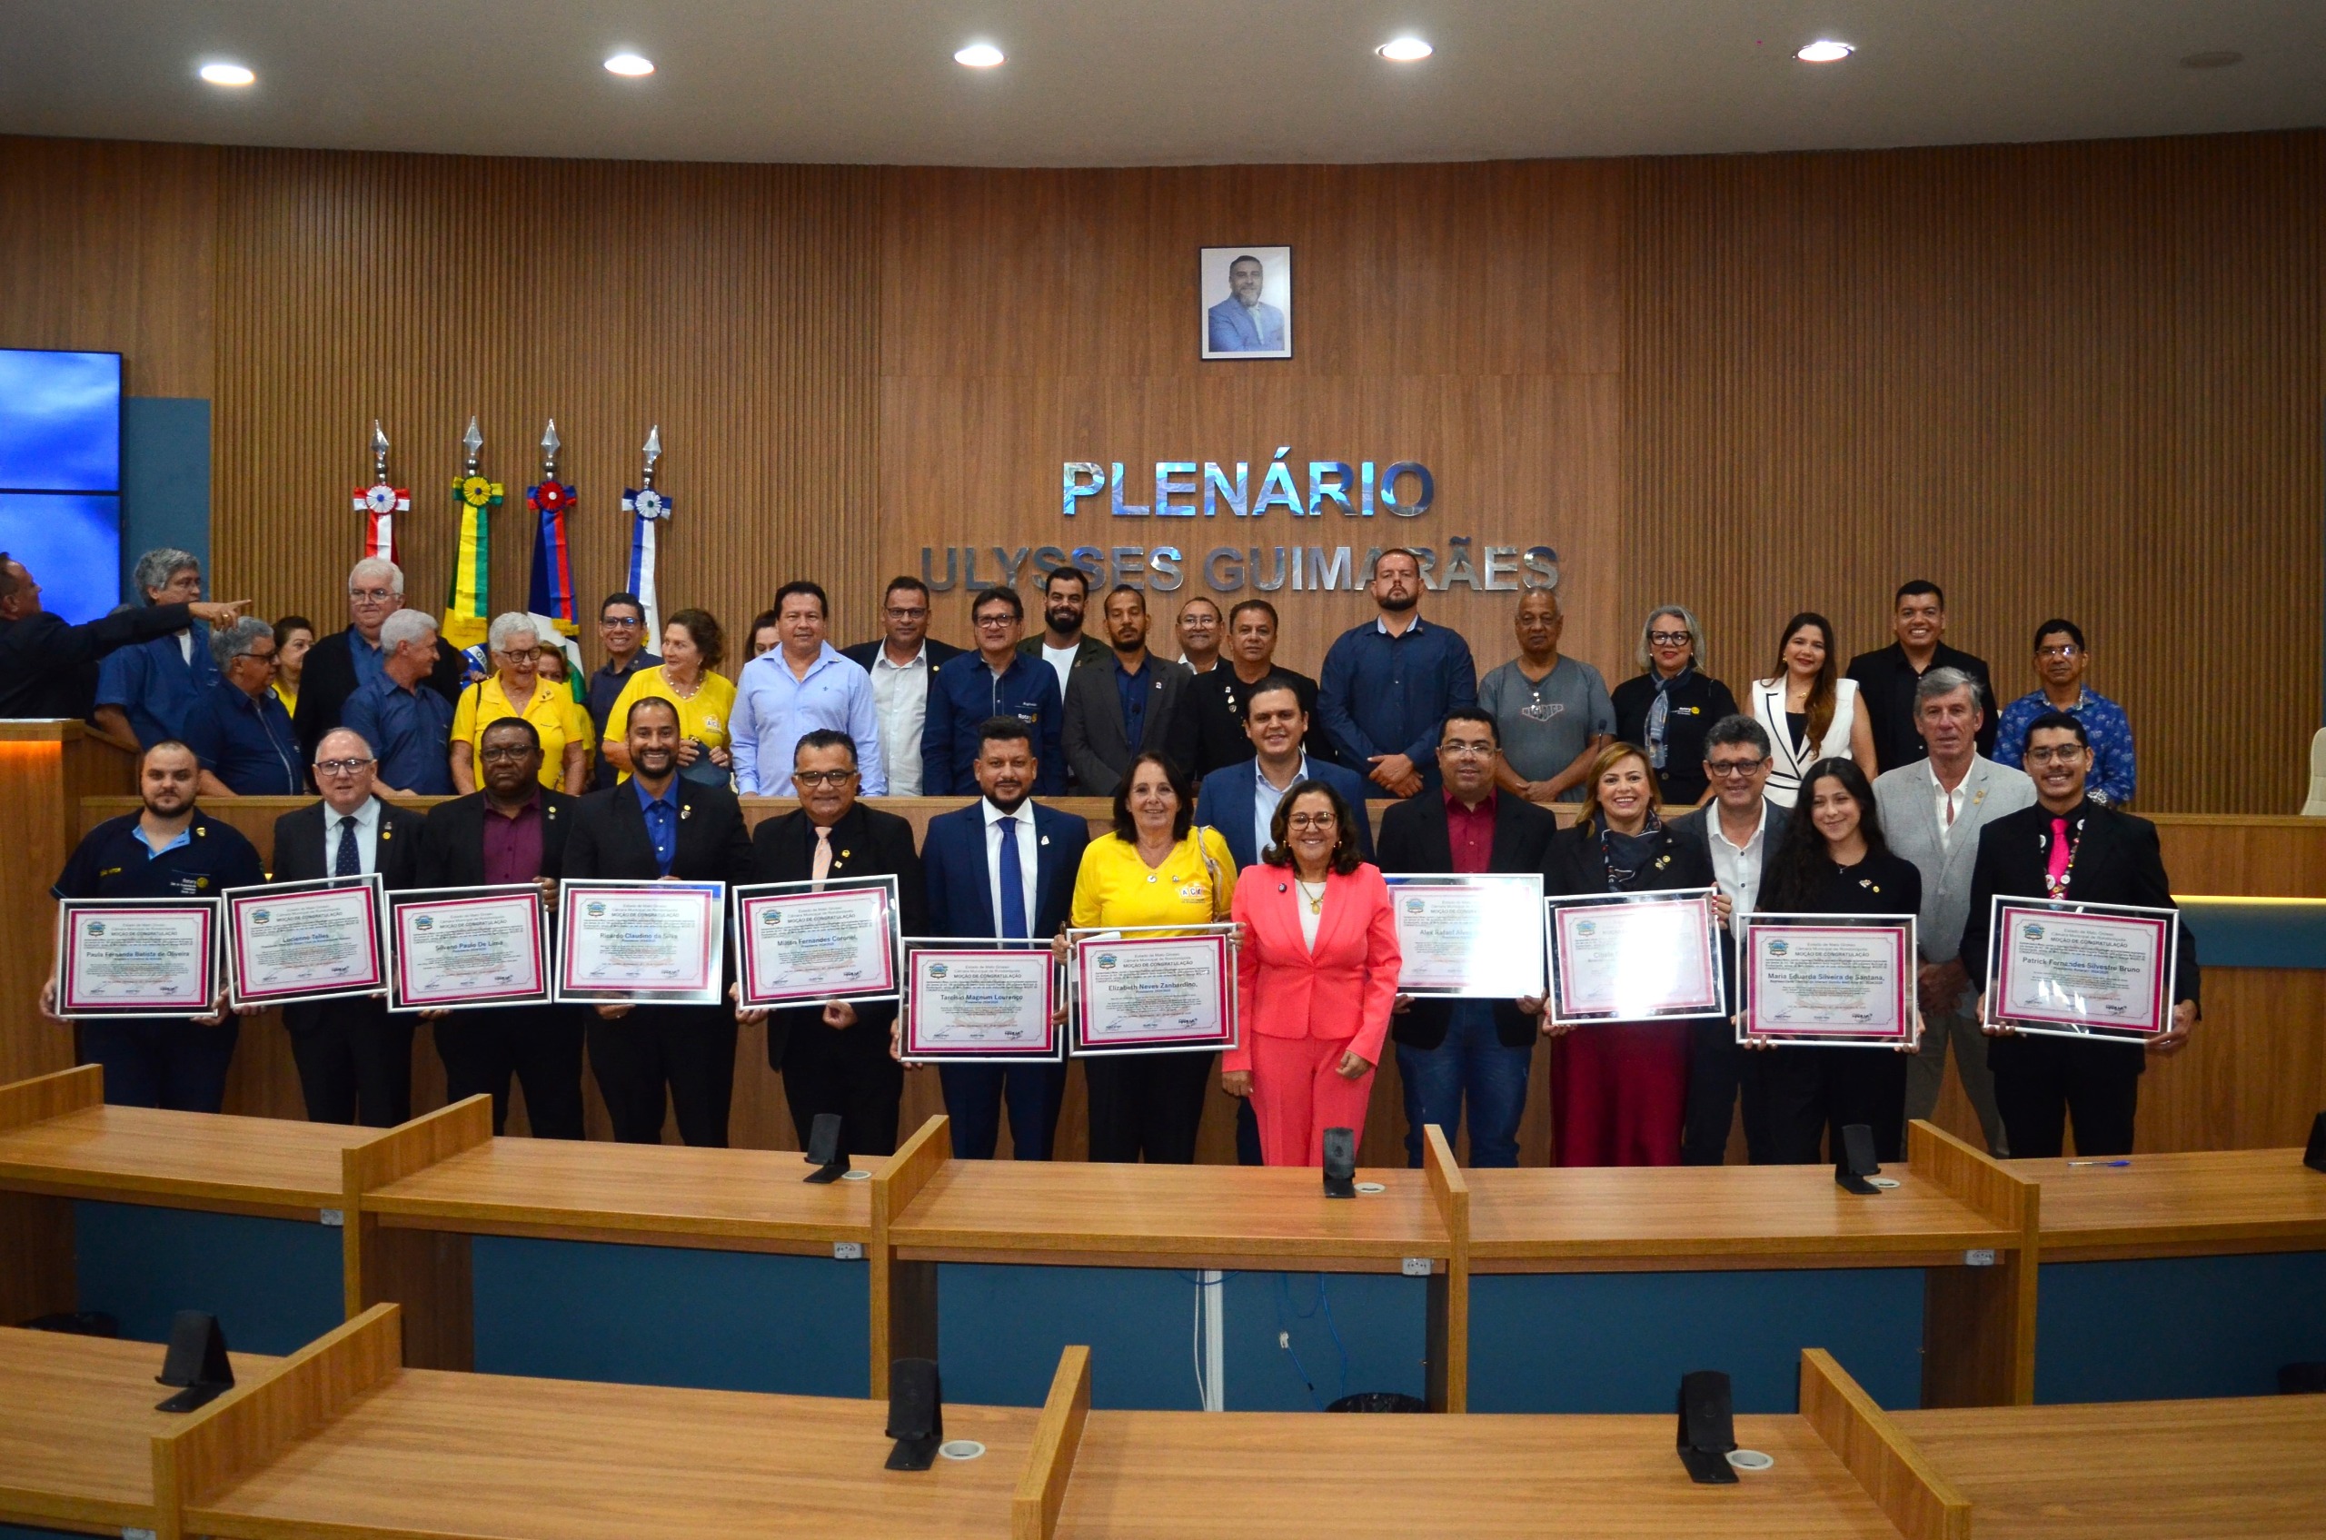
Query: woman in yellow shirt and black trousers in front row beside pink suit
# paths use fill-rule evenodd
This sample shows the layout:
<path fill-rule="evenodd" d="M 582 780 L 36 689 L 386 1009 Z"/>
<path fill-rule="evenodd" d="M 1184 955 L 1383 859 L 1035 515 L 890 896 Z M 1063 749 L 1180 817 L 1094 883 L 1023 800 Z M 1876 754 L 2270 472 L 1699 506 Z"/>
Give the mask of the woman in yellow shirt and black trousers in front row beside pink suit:
<path fill-rule="evenodd" d="M 1235 856 L 1216 828 L 1193 828 L 1196 786 L 1161 754 L 1140 754 L 1114 793 L 1114 833 L 1091 840 L 1075 872 L 1077 931 L 1210 926 L 1235 903 Z M 1091 1158 L 1189 1165 L 1216 1054 L 1082 1061 L 1091 1089 Z"/>

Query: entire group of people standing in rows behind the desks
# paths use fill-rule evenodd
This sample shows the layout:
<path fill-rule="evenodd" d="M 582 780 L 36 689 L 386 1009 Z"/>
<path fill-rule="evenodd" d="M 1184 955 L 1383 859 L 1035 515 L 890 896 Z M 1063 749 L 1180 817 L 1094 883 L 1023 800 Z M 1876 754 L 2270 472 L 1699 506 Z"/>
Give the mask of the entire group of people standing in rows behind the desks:
<path fill-rule="evenodd" d="M 1945 596 L 1926 582 L 1896 593 L 1896 642 L 1847 675 L 1824 616 L 1793 616 L 1742 712 L 1705 672 L 1703 628 L 1679 605 L 1647 616 L 1640 672 L 1610 693 L 1561 654 L 1556 593 L 1521 593 L 1519 656 L 1479 679 L 1468 642 L 1421 619 L 1421 568 L 1400 549 L 1375 563 L 1377 619 L 1335 640 L 1317 679 L 1277 665 L 1265 600 L 1221 612 L 1189 598 L 1179 661 L 1149 651 L 1140 589 L 1105 593 L 1105 640 L 1086 635 L 1077 568 L 1042 577 L 1037 635 L 1023 635 L 1014 589 L 977 593 L 972 649 L 933 640 L 926 584 L 900 577 L 882 637 L 840 651 L 823 589 L 793 582 L 751 621 L 733 682 L 712 614 L 670 614 L 654 654 L 644 607 L 616 593 L 598 612 L 607 661 L 582 691 L 544 675 L 565 654 L 526 614 L 491 623 L 486 672 L 470 677 L 435 621 L 402 607 L 402 575 L 384 561 L 354 568 L 349 626 L 323 637 L 298 616 L 267 626 L 200 603 L 184 551 L 149 554 L 137 586 L 147 607 L 65 628 L 0 556 L 0 712 L 91 714 L 142 749 L 144 810 L 88 835 L 60 896 L 240 886 L 256 854 L 244 863 L 247 842 L 198 798 L 312 784 L 323 800 L 277 826 L 274 879 L 886 872 L 909 935 L 1235 924 L 1244 1038 L 1221 1084 L 1244 1103 L 1247 1161 L 1314 1161 L 1326 1126 L 1361 1126 L 1393 1042 L 1410 1158 L 1426 1124 L 1454 1133 L 1468 1117 L 1472 1161 L 1514 1163 L 1537 1033 L 1554 1035 L 1563 1163 L 1719 1161 L 1740 1098 L 1756 1161 L 1814 1158 L 1828 1128 L 1854 1121 L 1893 1156 L 1903 1121 L 1935 1105 L 1949 1047 L 1998 1154 L 2056 1147 L 2070 1107 L 2079 1149 L 2131 1140 L 2140 1049 L 1991 1042 L 1977 1026 L 1986 896 L 2072 879 L 2075 898 L 2168 903 L 2154 828 L 2119 812 L 2131 730 L 2084 686 L 2070 621 L 2038 628 L 2042 684 L 2005 707 L 2014 735 L 1998 742 L 1986 665 L 1942 642 Z M 35 686 L 7 665 L 51 672 Z M 58 677 L 93 665 L 79 696 Z M 800 807 L 747 830 L 737 793 Z M 909 824 L 861 800 L 914 793 L 977 803 L 933 819 L 914 849 Z M 1030 800 L 1042 793 L 1112 798 L 1112 833 L 1089 840 L 1082 819 Z M 381 796 L 454 800 L 423 819 Z M 1377 851 L 1368 798 L 1391 800 Z M 1568 830 L 1544 807 L 1561 800 L 1575 803 Z M 1693 812 L 1665 824 L 1668 805 Z M 1989 861 L 1986 830 L 2035 805 L 2049 810 L 2033 828 L 2042 882 L 2007 886 L 2031 882 L 2024 851 L 1998 835 Z M 1540 1000 L 1407 1000 L 1382 872 L 1542 872 L 1549 893 L 1717 886 L 1731 924 L 1756 907 L 1917 912 L 1924 1051 L 1749 1051 L 1728 1021 L 1561 1033 Z M 2193 1019 L 2193 956 L 2179 977 Z M 314 1117 L 407 1114 L 409 1019 L 365 1000 L 288 1017 Z M 735 1017 L 491 1010 L 435 1038 L 454 1093 L 491 1091 L 495 1114 L 514 1075 L 535 1133 L 579 1135 L 586 1040 L 619 1138 L 661 1138 L 668 1105 L 688 1142 L 719 1145 Z M 851 1152 L 893 1147 L 891 1038 L 893 1005 L 775 1012 L 768 1056 L 795 1124 L 837 1112 Z M 81 1024 L 81 1051 L 107 1061 L 123 1098 L 214 1107 L 233 1024 Z M 1063 1065 L 940 1077 L 958 1154 L 991 1154 L 1003 1110 L 1019 1156 L 1049 1154 Z M 1193 1158 L 1210 1084 L 1207 1054 L 1089 1061 L 1091 1156 Z"/>

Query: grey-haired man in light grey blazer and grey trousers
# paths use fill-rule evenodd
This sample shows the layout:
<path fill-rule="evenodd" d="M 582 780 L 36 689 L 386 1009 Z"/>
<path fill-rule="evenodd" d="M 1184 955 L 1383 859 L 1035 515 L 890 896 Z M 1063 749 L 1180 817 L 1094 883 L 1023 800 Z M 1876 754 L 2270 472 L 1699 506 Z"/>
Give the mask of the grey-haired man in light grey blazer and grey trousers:
<path fill-rule="evenodd" d="M 1986 1149 L 2003 1158 L 2003 1117 L 1996 1112 L 1996 1079 L 1986 1070 L 1986 1038 L 1975 1000 L 1982 979 L 1963 972 L 1963 921 L 1970 917 L 1970 868 L 1979 858 L 1979 830 L 2035 800 L 2035 782 L 2021 770 L 1979 754 L 1986 703 L 1979 682 L 1958 668 L 1933 668 L 1914 686 L 1914 728 L 1931 758 L 1898 765 L 1875 779 L 1882 837 L 1921 872 L 1921 1051 L 1907 1063 L 1905 1114 L 1931 1117 L 1947 1079 L 1947 1045 L 1954 1070 L 1986 1131 Z"/>

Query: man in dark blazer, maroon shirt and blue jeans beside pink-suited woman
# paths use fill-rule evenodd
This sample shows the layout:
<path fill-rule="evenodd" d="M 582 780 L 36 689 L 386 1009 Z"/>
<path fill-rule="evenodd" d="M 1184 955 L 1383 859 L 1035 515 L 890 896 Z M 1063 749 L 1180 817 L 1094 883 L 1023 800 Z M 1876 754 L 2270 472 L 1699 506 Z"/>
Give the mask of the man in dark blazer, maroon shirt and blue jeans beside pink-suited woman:
<path fill-rule="evenodd" d="M 1547 807 L 1496 793 L 1500 758 L 1503 742 L 1489 712 L 1447 712 L 1437 728 L 1444 791 L 1391 803 L 1382 812 L 1382 870 L 1540 872 L 1558 819 Z M 1465 1098 L 1470 1163 L 1519 1163 L 1519 1119 L 1526 1114 L 1540 1014 L 1542 1000 L 1398 996 L 1389 1033 L 1398 1042 L 1398 1077 L 1405 1082 L 1407 1165 L 1421 1165 L 1424 1126 L 1437 1124 L 1449 1140 L 1456 1135 Z"/>

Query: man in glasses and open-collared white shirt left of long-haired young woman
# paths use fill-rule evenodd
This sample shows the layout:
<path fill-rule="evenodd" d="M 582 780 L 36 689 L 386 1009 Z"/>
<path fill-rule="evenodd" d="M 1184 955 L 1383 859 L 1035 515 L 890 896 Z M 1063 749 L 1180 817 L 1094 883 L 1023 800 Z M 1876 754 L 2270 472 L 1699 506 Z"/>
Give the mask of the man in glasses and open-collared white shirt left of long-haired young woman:
<path fill-rule="evenodd" d="M 1721 965 L 1728 970 L 1728 998 L 1735 998 L 1735 933 L 1761 900 L 1761 875 L 1770 851 L 1784 842 L 1786 810 L 1770 803 L 1768 733 L 1751 716 L 1728 714 L 1705 733 L 1705 779 L 1712 800 L 1672 819 L 1672 840 L 1693 840 L 1712 856 L 1712 879 L 1728 900 L 1728 944 Z M 1726 1019 L 1689 1024 L 1689 1110 L 1679 1133 L 1682 1165 L 1719 1165 L 1728 1156 L 1728 1124 L 1735 1119 L 1738 1089 L 1751 1075 L 1754 1058 L 1738 1047 Z M 1744 1096 L 1744 1152 L 1751 1161 L 1768 1154 L 1761 1131 L 1761 1096 Z"/>

